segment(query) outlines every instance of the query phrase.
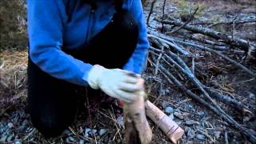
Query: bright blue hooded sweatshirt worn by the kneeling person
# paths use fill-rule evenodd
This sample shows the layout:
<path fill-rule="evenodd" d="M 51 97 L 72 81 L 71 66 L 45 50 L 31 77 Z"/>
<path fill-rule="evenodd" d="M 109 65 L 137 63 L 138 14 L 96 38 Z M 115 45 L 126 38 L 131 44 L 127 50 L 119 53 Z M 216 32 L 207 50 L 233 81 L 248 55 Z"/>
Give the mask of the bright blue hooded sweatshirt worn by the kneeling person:
<path fill-rule="evenodd" d="M 115 13 L 114 0 L 95 0 L 97 9 L 82 0 L 27 0 L 30 58 L 41 70 L 54 78 L 86 86 L 92 65 L 62 51 L 75 49 L 89 42 Z M 138 21 L 139 38 L 134 54 L 123 67 L 136 74 L 142 72 L 149 42 L 140 0 L 124 0 Z"/>

